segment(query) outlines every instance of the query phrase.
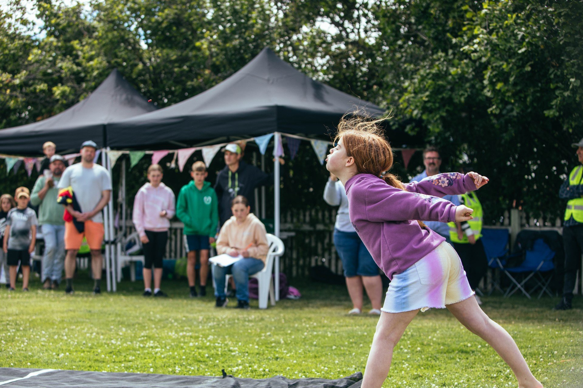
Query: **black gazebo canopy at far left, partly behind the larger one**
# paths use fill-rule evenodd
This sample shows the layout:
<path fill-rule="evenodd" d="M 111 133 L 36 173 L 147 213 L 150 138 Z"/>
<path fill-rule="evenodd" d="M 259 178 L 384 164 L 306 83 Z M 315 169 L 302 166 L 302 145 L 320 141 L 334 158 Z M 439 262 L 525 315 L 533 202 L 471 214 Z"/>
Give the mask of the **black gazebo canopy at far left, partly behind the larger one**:
<path fill-rule="evenodd" d="M 117 69 L 87 98 L 48 119 L 0 130 L 0 153 L 36 155 L 45 141 L 58 152 L 75 151 L 83 140 L 106 145 L 107 123 L 156 109 L 124 79 Z"/>

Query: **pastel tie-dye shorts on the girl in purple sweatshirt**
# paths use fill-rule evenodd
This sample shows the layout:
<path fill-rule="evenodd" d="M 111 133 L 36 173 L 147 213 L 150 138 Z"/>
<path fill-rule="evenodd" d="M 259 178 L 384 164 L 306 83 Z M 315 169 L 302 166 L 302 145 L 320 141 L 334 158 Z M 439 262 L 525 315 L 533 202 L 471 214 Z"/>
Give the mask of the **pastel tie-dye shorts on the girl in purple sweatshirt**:
<path fill-rule="evenodd" d="M 458 254 L 444 241 L 405 272 L 393 276 L 381 311 L 445 308 L 473 294 Z"/>

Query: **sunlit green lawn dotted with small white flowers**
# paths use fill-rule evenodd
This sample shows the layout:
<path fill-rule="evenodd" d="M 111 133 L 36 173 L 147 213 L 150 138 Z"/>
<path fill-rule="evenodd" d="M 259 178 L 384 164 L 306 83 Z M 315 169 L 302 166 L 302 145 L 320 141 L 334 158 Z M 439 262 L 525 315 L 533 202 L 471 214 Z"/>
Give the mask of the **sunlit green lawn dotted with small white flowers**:
<path fill-rule="evenodd" d="M 300 300 L 250 311 L 216 309 L 187 297 L 187 284 L 163 284 L 170 298 L 144 298 L 140 282 L 93 296 L 86 277 L 76 294 L 0 290 L 0 366 L 236 377 L 339 378 L 364 371 L 378 318 L 348 316 L 344 287 L 292 283 Z M 85 275 L 86 276 L 86 275 Z M 20 284 L 18 284 L 20 286 Z M 104 287 L 103 287 L 104 288 Z M 583 387 L 583 300 L 484 297 L 483 309 L 517 341 L 546 387 Z M 504 362 L 444 310 L 419 314 L 395 351 L 385 387 L 516 387 Z"/>

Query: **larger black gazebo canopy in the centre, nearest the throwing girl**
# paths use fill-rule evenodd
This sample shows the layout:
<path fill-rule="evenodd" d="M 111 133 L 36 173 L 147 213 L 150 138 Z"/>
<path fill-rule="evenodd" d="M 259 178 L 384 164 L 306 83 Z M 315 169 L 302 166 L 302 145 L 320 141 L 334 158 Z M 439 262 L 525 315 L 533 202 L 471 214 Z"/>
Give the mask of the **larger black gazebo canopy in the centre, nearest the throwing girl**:
<path fill-rule="evenodd" d="M 227 136 L 259 136 L 279 131 L 325 134 L 346 112 L 378 106 L 312 80 L 265 48 L 231 77 L 179 102 L 107 125 L 114 149 L 187 147 Z"/>

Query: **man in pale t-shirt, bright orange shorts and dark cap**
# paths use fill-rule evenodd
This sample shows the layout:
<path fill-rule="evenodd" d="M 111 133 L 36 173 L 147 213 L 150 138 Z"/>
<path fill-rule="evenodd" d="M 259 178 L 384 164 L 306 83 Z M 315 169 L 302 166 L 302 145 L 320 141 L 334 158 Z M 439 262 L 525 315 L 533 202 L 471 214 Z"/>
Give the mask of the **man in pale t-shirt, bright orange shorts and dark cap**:
<path fill-rule="evenodd" d="M 79 203 L 81 211 L 75 211 L 72 205 L 66 205 L 66 209 L 78 222 L 83 223 L 83 231 L 80 232 L 72 221 L 65 222 L 65 280 L 66 294 L 73 293 L 73 275 L 77 252 L 86 238 L 91 250 L 91 267 L 93 270 L 93 293 L 101 293 L 101 268 L 103 257 L 101 256 L 101 244 L 103 244 L 104 228 L 101 210 L 106 207 L 111 195 L 111 177 L 109 172 L 100 165 L 93 163 L 97 144 L 88 140 L 81 144 L 81 162 L 65 169 L 59 189 L 71 186 L 73 194 Z"/>

